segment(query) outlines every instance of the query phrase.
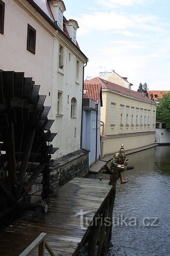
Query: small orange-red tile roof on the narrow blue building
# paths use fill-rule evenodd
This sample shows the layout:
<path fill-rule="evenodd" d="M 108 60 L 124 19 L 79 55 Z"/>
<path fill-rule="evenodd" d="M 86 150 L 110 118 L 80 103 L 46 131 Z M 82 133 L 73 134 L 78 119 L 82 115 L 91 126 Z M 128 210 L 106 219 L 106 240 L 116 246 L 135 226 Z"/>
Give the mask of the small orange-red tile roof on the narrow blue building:
<path fill-rule="evenodd" d="M 96 104 L 99 104 L 99 98 L 101 93 L 101 84 L 99 83 L 89 83 L 88 81 L 84 82 L 84 90 L 86 94 L 83 94 L 83 98 L 91 98 L 96 101 Z"/>

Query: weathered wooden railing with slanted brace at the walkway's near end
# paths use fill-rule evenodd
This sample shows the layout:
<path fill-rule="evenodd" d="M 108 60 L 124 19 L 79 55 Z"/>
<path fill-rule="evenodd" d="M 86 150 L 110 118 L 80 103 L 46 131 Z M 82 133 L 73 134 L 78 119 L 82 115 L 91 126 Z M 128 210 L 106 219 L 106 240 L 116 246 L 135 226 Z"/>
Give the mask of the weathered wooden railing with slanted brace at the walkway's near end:
<path fill-rule="evenodd" d="M 50 253 L 51 256 L 55 256 L 54 252 L 51 250 L 49 244 L 47 241 L 45 241 L 45 238 L 47 236 L 47 233 L 41 233 L 40 236 L 38 236 L 32 244 L 30 244 L 26 250 L 24 250 L 19 256 L 28 256 L 37 246 L 38 246 L 38 256 L 44 256 L 45 255 L 45 248 L 48 250 L 48 253 Z"/>

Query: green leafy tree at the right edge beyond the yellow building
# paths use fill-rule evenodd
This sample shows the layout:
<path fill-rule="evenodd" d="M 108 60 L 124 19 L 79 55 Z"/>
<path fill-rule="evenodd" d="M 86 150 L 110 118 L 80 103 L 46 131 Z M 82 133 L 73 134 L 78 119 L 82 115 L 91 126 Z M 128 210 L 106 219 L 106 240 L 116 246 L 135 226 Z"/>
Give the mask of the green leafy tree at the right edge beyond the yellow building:
<path fill-rule="evenodd" d="M 170 129 L 170 92 L 164 94 L 163 98 L 159 100 L 159 105 L 156 108 L 156 119 L 164 121 L 166 128 Z"/>

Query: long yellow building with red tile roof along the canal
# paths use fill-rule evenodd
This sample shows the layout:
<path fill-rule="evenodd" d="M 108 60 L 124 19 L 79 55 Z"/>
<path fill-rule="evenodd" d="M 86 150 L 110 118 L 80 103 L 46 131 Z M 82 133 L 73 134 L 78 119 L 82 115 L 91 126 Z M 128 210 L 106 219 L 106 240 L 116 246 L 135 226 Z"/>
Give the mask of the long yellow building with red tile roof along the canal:
<path fill-rule="evenodd" d="M 99 77 L 85 81 L 102 84 L 102 155 L 124 144 L 126 150 L 155 143 L 156 103 L 142 93 Z"/>

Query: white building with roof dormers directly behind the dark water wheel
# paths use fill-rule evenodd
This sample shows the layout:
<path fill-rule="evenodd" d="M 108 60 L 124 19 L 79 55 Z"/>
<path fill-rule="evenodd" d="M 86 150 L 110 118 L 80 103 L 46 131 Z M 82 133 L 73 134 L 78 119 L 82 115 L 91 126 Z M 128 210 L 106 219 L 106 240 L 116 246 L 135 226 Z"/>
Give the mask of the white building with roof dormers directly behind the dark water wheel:
<path fill-rule="evenodd" d="M 51 106 L 53 146 L 60 157 L 80 149 L 83 69 L 77 21 L 62 0 L 0 0 L 0 69 L 25 72 Z"/>

